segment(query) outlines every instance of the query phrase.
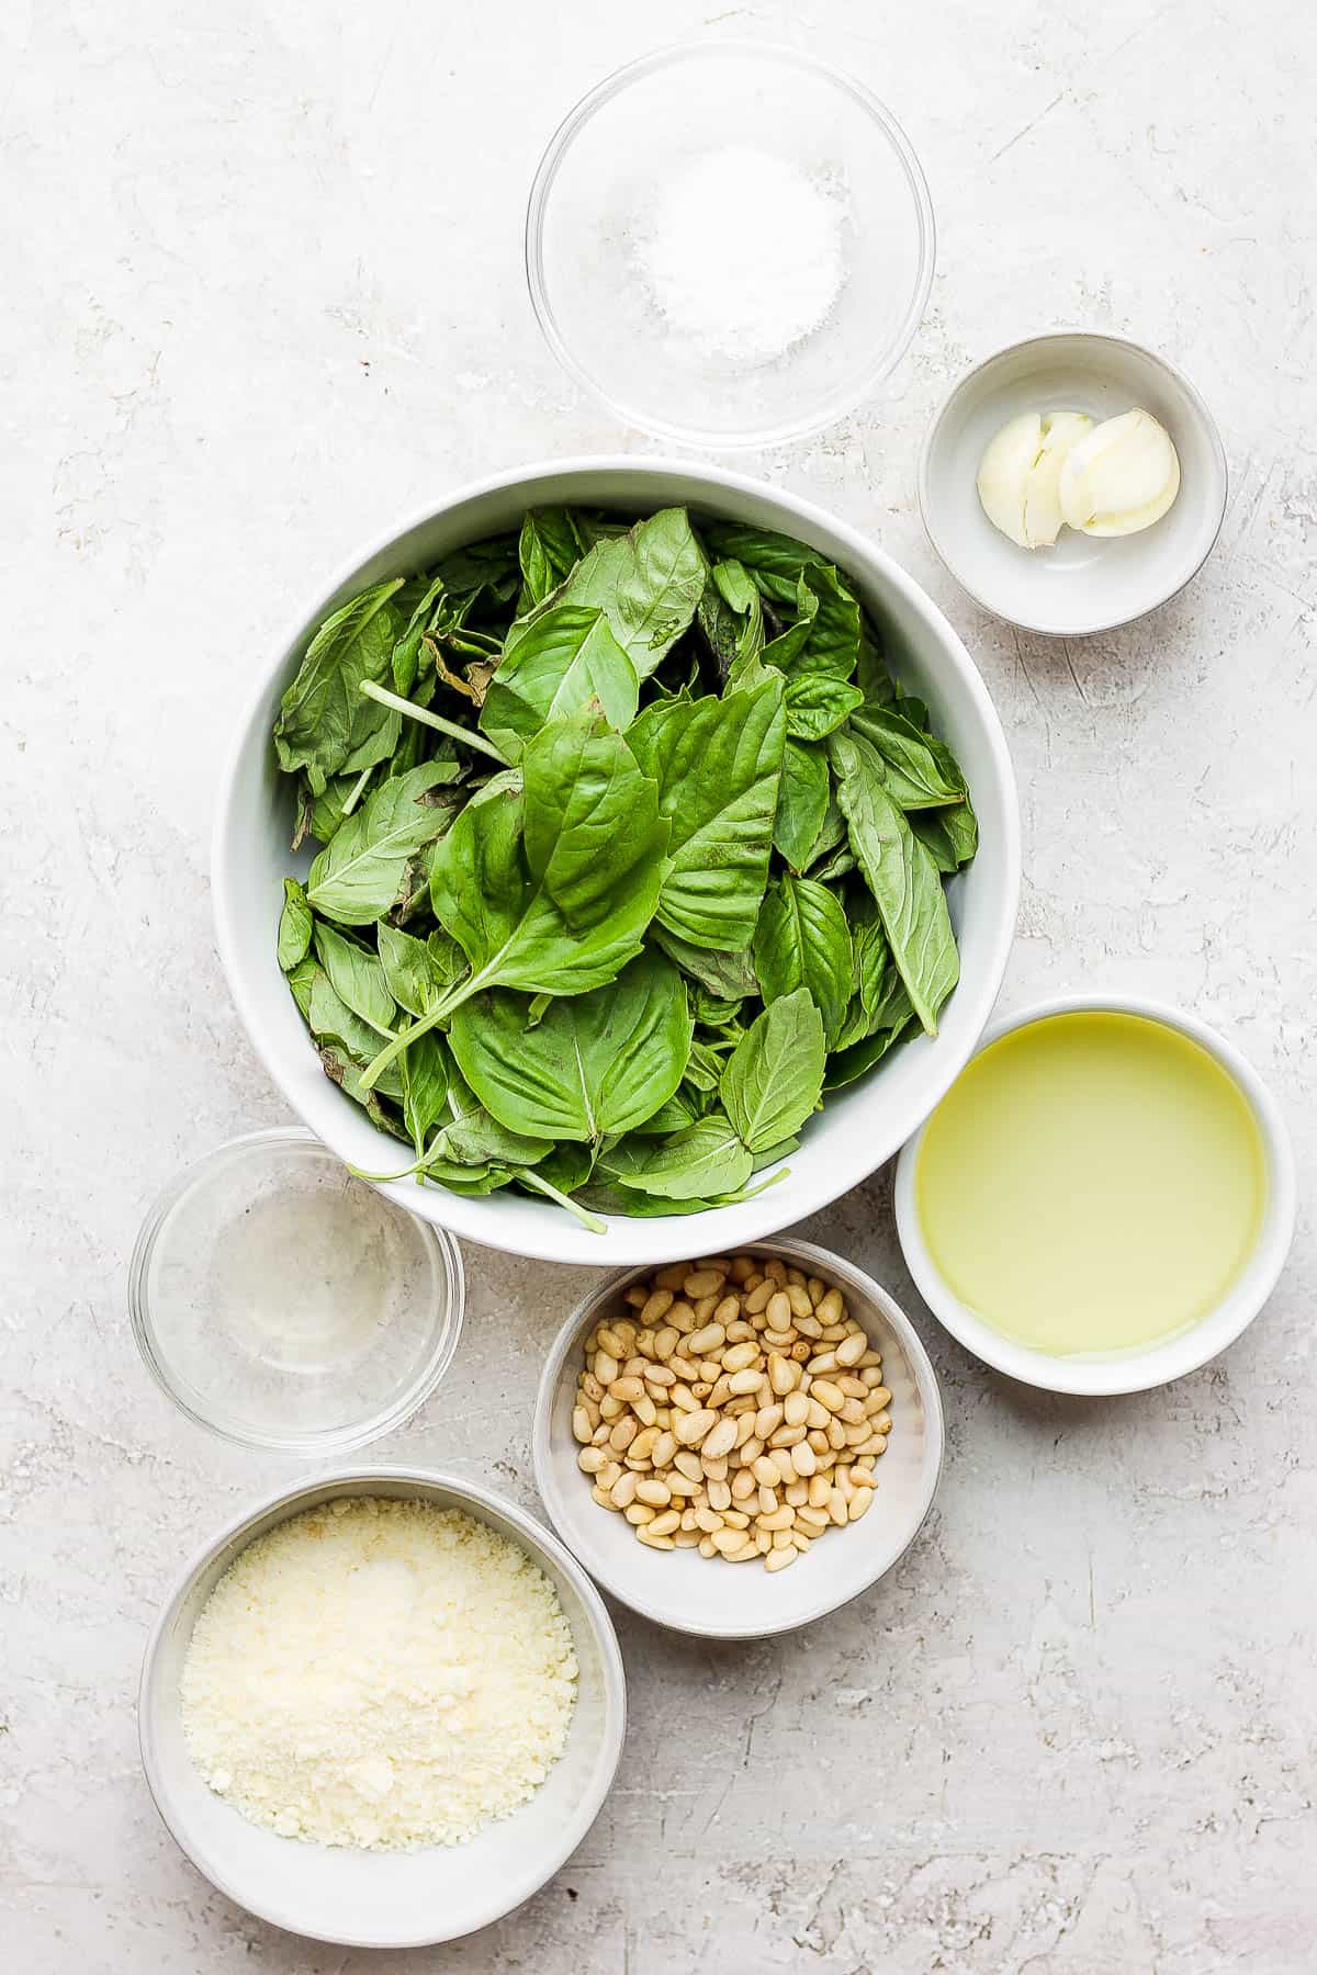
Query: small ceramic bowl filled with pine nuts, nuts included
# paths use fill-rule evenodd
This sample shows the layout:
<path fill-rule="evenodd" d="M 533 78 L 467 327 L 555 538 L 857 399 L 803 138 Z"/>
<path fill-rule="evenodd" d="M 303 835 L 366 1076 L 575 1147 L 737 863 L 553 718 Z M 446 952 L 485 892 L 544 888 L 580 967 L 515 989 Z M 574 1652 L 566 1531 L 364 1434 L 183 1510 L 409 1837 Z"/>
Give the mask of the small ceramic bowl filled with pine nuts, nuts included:
<path fill-rule="evenodd" d="M 539 1493 L 590 1576 L 709 1639 L 792 1631 L 877 1584 L 942 1444 L 908 1317 L 784 1238 L 608 1278 L 555 1339 L 533 1426 Z"/>

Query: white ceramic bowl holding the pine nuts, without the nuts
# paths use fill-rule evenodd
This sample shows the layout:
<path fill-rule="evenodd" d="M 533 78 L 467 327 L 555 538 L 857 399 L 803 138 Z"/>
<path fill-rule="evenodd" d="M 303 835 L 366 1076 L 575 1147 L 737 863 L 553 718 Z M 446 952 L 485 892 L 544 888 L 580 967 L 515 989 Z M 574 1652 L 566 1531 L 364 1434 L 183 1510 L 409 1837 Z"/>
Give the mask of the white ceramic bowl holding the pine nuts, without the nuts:
<path fill-rule="evenodd" d="M 859 1598 L 914 1542 L 942 1473 L 938 1377 L 914 1325 L 887 1290 L 813 1242 L 742 1242 L 736 1252 L 746 1250 L 782 1256 L 812 1276 L 835 1282 L 851 1315 L 883 1353 L 892 1432 L 877 1465 L 873 1507 L 861 1523 L 829 1531 L 790 1570 L 770 1576 L 760 1564 L 723 1564 L 693 1550 L 646 1550 L 620 1515 L 592 1501 L 571 1430 L 581 1343 L 596 1323 L 628 1313 L 624 1292 L 648 1268 L 610 1276 L 567 1319 L 545 1361 L 531 1430 L 535 1485 L 563 1542 L 590 1576 L 656 1625 L 705 1639 L 762 1639 L 794 1631 Z M 687 1244 L 687 1254 L 697 1252 L 695 1244 Z"/>

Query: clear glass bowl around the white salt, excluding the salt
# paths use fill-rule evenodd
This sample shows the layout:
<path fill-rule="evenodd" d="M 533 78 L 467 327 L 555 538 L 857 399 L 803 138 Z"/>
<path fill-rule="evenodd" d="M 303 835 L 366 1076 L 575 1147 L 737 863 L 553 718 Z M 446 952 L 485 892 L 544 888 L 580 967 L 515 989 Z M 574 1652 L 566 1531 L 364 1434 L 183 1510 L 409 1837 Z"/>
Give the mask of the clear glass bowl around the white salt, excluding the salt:
<path fill-rule="evenodd" d="M 841 213 L 831 310 L 766 361 L 677 330 L 644 271 L 658 201 L 727 146 L 804 174 Z M 735 209 L 723 225 L 735 261 Z M 869 397 L 918 328 L 932 265 L 932 201 L 896 118 L 839 69 L 758 41 L 669 47 L 610 75 L 557 130 L 525 219 L 531 300 L 563 365 L 646 433 L 709 448 L 798 438 Z"/>

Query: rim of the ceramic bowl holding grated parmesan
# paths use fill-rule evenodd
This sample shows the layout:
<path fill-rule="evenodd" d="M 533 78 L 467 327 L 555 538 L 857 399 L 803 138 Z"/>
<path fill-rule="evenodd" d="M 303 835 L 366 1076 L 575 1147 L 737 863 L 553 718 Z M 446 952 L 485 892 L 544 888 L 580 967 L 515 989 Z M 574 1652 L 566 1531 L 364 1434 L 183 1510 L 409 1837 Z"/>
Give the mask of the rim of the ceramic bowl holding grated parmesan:
<path fill-rule="evenodd" d="M 233 1886 L 223 1870 L 215 1868 L 205 1847 L 186 1843 L 180 1825 L 174 1815 L 174 1789 L 168 1774 L 160 1764 L 158 1754 L 158 1716 L 160 1716 L 160 1691 L 158 1691 L 158 1667 L 164 1649 L 164 1637 L 192 1594 L 192 1586 L 201 1576 L 201 1572 L 215 1560 L 215 1556 L 225 1550 L 235 1539 L 239 1539 L 247 1529 L 261 1523 L 272 1509 L 280 1509 L 278 1521 L 288 1521 L 302 1509 L 314 1509 L 316 1501 L 326 1497 L 328 1489 L 336 1489 L 342 1483 L 361 1485 L 363 1493 L 371 1493 L 377 1481 L 409 1481 L 421 1489 L 444 1489 L 464 1501 L 476 1503 L 482 1509 L 492 1509 L 496 1517 L 504 1517 L 523 1540 L 525 1548 L 535 1554 L 553 1558 L 557 1568 L 569 1578 L 573 1590 L 581 1598 L 581 1606 L 586 1614 L 586 1623 L 594 1645 L 598 1647 L 600 1667 L 602 1667 L 602 1748 L 596 1762 L 596 1774 L 590 1781 L 582 1803 L 577 1807 L 575 1815 L 561 1827 L 557 1843 L 543 1855 L 543 1870 L 539 1864 L 533 1872 L 525 1874 L 517 1884 L 513 1900 L 498 1900 L 484 1918 L 472 1922 L 460 1934 L 417 1934 L 399 1937 L 377 1937 L 377 1936 L 344 1936 L 344 1934 L 318 1934 L 314 1926 L 308 1926 L 304 1918 L 290 1914 L 280 1908 L 278 1900 L 249 1898 L 243 1890 Z M 608 1791 L 612 1789 L 614 1778 L 618 1774 L 618 1764 L 622 1760 L 622 1748 L 626 1742 L 626 1669 L 622 1663 L 622 1649 L 618 1647 L 618 1635 L 608 1616 L 598 1590 L 594 1588 L 590 1574 L 582 1570 L 581 1562 L 573 1556 L 569 1546 L 561 1537 L 539 1523 L 527 1509 L 500 1495 L 496 1489 L 488 1489 L 478 1481 L 468 1481 L 464 1475 L 452 1473 L 446 1467 L 417 1465 L 411 1462 L 401 1463 L 371 1463 L 371 1465 L 348 1465 L 334 1467 L 326 1473 L 314 1475 L 310 1479 L 290 1481 L 282 1487 L 271 1489 L 261 1495 L 259 1501 L 249 1503 L 235 1517 L 231 1517 L 223 1529 L 209 1537 L 176 1572 L 170 1590 L 166 1592 L 156 1620 L 150 1627 L 146 1647 L 142 1653 L 142 1673 L 138 1679 L 138 1748 L 142 1758 L 142 1774 L 146 1778 L 146 1787 L 160 1813 L 160 1819 L 182 1851 L 186 1858 L 201 1872 L 211 1886 L 215 1886 L 227 1900 L 241 1906 L 245 1912 L 255 1914 L 259 1920 L 267 1920 L 274 1928 L 282 1928 L 286 1934 L 300 1934 L 312 1941 L 330 1941 L 336 1947 L 434 1947 L 444 1941 L 462 1939 L 464 1936 L 476 1934 L 480 1928 L 492 1926 L 505 1914 L 511 1914 L 517 1906 L 525 1904 L 541 1886 L 545 1886 L 557 1870 L 571 1858 L 577 1847 L 582 1843 L 590 1831 L 594 1819 L 598 1817 Z"/>

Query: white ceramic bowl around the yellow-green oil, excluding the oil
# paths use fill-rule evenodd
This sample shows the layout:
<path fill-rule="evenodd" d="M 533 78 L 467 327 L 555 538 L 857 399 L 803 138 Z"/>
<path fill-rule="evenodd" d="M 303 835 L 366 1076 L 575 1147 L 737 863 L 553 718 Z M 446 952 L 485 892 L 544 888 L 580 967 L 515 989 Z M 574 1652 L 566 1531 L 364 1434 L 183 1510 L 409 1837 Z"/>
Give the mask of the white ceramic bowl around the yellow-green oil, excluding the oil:
<path fill-rule="evenodd" d="M 1206 1365 L 1218 1351 L 1232 1345 L 1248 1329 L 1276 1288 L 1293 1240 L 1297 1211 L 1293 1147 L 1279 1104 L 1254 1066 L 1216 1029 L 1208 1029 L 1197 1015 L 1187 1015 L 1185 1009 L 1169 1007 L 1165 1001 L 1120 993 L 1058 995 L 1050 1001 L 1037 1001 L 1009 1015 L 1005 1021 L 993 1023 L 979 1047 L 987 1049 L 1003 1035 L 1011 1035 L 1033 1021 L 1045 1021 L 1048 1015 L 1072 1015 L 1078 1011 L 1143 1015 L 1147 1021 L 1165 1023 L 1165 1027 L 1187 1035 L 1220 1063 L 1258 1120 L 1268 1169 L 1268 1203 L 1262 1232 L 1244 1272 L 1218 1307 L 1165 1343 L 1133 1351 L 1108 1351 L 1094 1357 L 1052 1357 L 1046 1351 L 1031 1351 L 1029 1345 L 1003 1337 L 1001 1331 L 991 1329 L 962 1304 L 942 1278 L 924 1240 L 914 1205 L 914 1175 L 924 1128 L 904 1146 L 896 1161 L 896 1232 L 906 1266 L 932 1313 L 946 1325 L 952 1337 L 960 1339 L 966 1351 L 973 1351 L 985 1365 L 993 1365 L 1011 1379 L 1019 1379 L 1023 1384 L 1037 1384 L 1046 1392 L 1145 1392 L 1155 1384 L 1169 1384 L 1171 1379 L 1183 1379 L 1185 1373 L 1197 1371 L 1199 1365 Z"/>

